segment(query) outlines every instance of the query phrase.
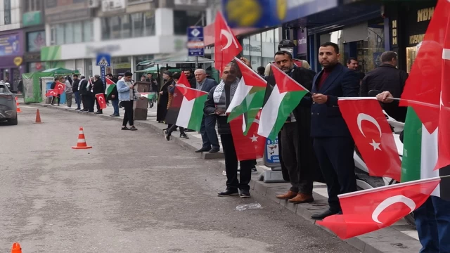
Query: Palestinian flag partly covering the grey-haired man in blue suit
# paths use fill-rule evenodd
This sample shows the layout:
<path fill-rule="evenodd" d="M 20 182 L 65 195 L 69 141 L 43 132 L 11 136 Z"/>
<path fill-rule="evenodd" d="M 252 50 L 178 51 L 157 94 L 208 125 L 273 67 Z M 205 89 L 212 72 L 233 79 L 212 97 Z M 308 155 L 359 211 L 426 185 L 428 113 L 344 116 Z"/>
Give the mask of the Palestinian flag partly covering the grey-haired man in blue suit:
<path fill-rule="evenodd" d="M 167 110 L 165 121 L 167 124 L 200 131 L 208 93 L 184 85 L 176 84 L 175 86 L 172 104 Z"/>

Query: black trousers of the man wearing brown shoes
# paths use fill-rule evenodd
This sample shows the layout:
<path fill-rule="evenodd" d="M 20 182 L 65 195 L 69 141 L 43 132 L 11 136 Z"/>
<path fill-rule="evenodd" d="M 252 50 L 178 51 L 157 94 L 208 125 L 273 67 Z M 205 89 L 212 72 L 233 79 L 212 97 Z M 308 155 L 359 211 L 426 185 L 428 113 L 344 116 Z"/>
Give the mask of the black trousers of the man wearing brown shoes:
<path fill-rule="evenodd" d="M 300 147 L 297 122 L 285 123 L 281 133 L 281 159 L 289 173 L 289 181 L 294 193 L 312 195 L 313 181 L 309 169 L 300 167 Z"/>

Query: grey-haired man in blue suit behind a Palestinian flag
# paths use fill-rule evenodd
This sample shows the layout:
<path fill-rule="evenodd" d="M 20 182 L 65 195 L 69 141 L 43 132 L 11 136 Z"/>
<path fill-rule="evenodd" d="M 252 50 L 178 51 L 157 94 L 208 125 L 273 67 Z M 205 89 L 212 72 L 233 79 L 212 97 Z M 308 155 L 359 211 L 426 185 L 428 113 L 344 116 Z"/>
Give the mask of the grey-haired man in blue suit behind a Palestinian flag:
<path fill-rule="evenodd" d="M 211 89 L 217 85 L 216 80 L 206 78 L 206 71 L 203 69 L 195 70 L 196 89 L 210 93 Z M 220 150 L 219 138 L 216 133 L 216 116 L 203 115 L 202 124 L 200 126 L 200 134 L 202 134 L 203 145 L 195 153 L 209 152 L 217 153 Z M 211 148 L 212 146 L 212 148 Z"/>

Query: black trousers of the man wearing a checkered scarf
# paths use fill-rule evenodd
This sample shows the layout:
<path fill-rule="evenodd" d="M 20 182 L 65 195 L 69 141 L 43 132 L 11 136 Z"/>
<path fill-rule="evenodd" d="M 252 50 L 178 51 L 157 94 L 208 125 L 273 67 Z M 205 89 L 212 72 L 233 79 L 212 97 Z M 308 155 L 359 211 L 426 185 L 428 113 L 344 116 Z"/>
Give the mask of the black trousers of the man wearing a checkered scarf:
<path fill-rule="evenodd" d="M 238 180 L 238 157 L 234 148 L 231 134 L 221 134 L 222 147 L 225 155 L 226 188 L 240 190 L 250 190 L 250 180 L 252 179 L 252 167 L 255 160 L 245 160 L 240 162 L 240 179 Z"/>

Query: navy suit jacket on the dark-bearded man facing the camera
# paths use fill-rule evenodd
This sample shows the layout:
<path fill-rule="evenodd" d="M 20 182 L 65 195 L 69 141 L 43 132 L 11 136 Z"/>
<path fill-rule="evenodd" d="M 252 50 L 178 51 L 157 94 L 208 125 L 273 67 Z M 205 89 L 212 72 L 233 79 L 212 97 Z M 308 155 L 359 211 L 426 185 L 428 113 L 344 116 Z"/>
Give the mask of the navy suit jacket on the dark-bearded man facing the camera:
<path fill-rule="evenodd" d="M 355 71 L 338 64 L 330 73 L 321 89 L 317 89 L 319 77 L 323 70 L 316 74 L 311 93 L 322 93 L 328 96 L 327 102 L 319 105 L 309 99 L 311 105 L 311 137 L 351 137 L 347 124 L 338 107 L 338 97 L 359 96 L 359 76 Z"/>

